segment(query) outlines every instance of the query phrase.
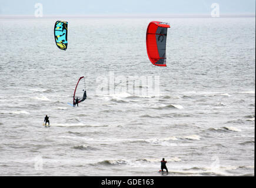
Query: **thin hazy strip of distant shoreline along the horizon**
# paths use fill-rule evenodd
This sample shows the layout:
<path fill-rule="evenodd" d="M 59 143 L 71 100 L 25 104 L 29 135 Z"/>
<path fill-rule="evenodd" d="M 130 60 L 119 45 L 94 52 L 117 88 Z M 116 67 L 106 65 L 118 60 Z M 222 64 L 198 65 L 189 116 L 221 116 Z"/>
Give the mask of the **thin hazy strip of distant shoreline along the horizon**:
<path fill-rule="evenodd" d="M 213 18 L 210 14 L 187 15 L 0 15 L 0 19 L 54 19 L 54 18 Z M 221 14 L 218 18 L 255 18 L 255 14 Z"/>

